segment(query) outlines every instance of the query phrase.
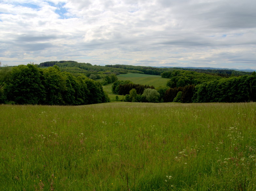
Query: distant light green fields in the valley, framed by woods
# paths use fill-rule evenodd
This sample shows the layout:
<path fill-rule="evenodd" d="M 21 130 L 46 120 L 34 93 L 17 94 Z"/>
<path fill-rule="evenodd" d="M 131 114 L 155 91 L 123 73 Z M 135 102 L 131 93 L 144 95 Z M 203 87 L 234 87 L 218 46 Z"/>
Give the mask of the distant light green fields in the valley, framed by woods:
<path fill-rule="evenodd" d="M 128 73 L 128 74 L 120 74 L 117 75 L 118 80 L 130 80 L 131 82 L 135 84 L 142 84 L 142 85 L 150 85 L 154 86 L 155 88 L 159 86 L 166 86 L 166 83 L 169 78 L 162 78 L 160 75 L 147 75 L 147 74 L 137 74 L 137 73 Z M 102 81 L 102 79 L 98 79 L 96 81 Z M 111 101 L 116 99 L 115 94 L 112 93 L 111 87 L 113 83 L 107 84 L 103 86 L 104 91 L 108 93 L 108 96 Z M 119 99 L 121 99 L 123 96 L 119 95 Z"/>

